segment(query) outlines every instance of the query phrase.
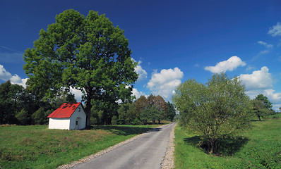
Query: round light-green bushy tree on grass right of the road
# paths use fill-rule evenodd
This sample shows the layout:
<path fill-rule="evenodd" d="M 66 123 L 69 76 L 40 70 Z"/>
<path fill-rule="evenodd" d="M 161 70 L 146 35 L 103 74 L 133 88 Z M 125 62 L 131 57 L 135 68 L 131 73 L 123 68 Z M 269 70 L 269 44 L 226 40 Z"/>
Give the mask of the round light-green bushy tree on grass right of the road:
<path fill-rule="evenodd" d="M 187 80 L 173 96 L 184 125 L 200 134 L 213 154 L 217 140 L 250 126 L 251 100 L 237 78 L 215 74 L 202 84 Z"/>

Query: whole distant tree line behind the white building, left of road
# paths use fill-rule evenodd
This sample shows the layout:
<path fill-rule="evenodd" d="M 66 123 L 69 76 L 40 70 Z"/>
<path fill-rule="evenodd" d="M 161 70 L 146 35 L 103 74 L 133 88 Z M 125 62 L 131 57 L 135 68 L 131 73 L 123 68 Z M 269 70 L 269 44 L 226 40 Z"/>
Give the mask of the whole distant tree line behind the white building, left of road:
<path fill-rule="evenodd" d="M 40 94 L 31 92 L 8 80 L 0 84 L 0 125 L 44 125 L 47 116 L 63 103 L 76 103 L 73 94 L 67 91 L 57 94 L 55 99 L 43 99 Z M 109 103 L 109 104 L 108 104 Z M 111 106 L 111 107 L 109 107 Z M 113 111 L 104 111 L 110 108 Z M 162 96 L 140 96 L 136 101 L 123 104 L 110 104 L 107 101 L 92 101 L 91 125 L 132 124 L 146 125 L 160 123 L 160 120 L 174 120 L 176 111 L 173 104 Z"/>

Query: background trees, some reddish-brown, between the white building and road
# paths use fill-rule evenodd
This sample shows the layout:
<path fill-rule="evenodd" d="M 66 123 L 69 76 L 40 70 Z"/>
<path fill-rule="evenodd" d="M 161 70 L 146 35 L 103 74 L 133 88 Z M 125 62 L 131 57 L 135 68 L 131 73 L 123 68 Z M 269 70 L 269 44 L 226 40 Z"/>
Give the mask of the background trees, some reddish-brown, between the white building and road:
<path fill-rule="evenodd" d="M 104 125 L 104 111 L 98 105 L 92 106 L 91 124 Z M 160 123 L 160 120 L 174 120 L 176 110 L 174 105 L 166 102 L 162 96 L 140 96 L 134 102 L 119 104 L 116 112 L 112 113 L 112 124 L 146 125 Z"/>

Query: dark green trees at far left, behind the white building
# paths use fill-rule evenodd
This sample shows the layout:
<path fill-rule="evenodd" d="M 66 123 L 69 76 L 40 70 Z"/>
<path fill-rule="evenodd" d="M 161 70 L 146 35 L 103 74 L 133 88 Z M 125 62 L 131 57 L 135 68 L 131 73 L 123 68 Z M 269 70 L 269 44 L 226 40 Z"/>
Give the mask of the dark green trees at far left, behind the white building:
<path fill-rule="evenodd" d="M 74 103 L 73 94 L 61 92 L 56 99 L 42 101 L 38 96 L 8 80 L 0 84 L 0 124 L 46 124 L 47 115 L 64 102 Z"/>

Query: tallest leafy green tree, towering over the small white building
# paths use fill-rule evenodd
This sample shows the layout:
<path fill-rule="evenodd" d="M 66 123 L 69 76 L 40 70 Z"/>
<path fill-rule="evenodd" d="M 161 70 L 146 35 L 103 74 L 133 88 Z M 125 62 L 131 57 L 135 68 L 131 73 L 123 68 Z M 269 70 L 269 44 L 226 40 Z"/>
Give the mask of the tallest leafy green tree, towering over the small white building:
<path fill-rule="evenodd" d="M 84 93 L 87 126 L 92 99 L 107 101 L 104 109 L 110 112 L 119 99 L 130 99 L 130 84 L 138 78 L 124 31 L 95 11 L 86 18 L 74 10 L 56 15 L 24 60 L 29 88 L 43 99 L 69 87 Z"/>

